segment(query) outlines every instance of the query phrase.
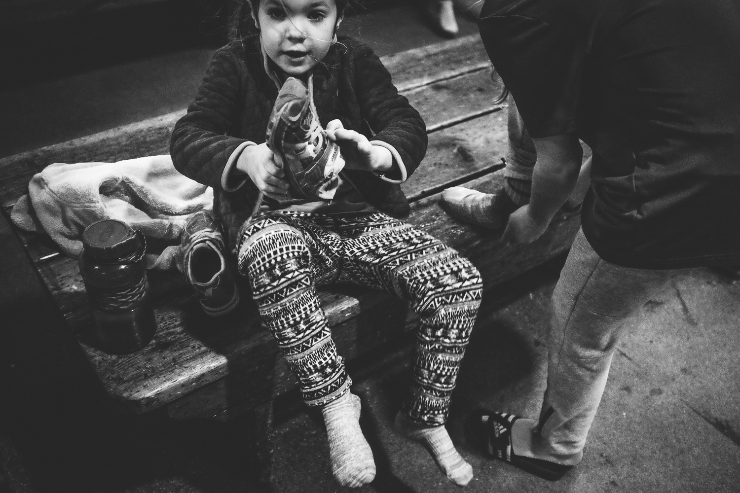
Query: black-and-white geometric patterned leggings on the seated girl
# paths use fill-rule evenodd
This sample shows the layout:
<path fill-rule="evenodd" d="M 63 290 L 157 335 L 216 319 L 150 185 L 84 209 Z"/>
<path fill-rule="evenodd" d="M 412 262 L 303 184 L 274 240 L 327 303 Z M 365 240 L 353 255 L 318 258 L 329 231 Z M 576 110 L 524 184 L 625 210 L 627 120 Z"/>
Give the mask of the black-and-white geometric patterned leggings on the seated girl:
<path fill-rule="evenodd" d="M 242 226 L 238 252 L 239 272 L 249 276 L 307 404 L 321 406 L 349 390 L 314 286 L 351 282 L 411 302 L 421 324 L 403 412 L 416 423 L 445 423 L 482 293 L 468 259 L 379 212 L 258 214 Z"/>

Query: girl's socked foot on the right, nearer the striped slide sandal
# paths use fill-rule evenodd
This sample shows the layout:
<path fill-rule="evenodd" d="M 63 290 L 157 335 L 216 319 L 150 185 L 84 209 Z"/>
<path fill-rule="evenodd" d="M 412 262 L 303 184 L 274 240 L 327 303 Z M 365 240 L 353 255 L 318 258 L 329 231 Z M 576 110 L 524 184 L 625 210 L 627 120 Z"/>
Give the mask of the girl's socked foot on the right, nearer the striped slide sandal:
<path fill-rule="evenodd" d="M 447 434 L 445 426 L 415 424 L 398 412 L 396 431 L 406 438 L 420 442 L 428 449 L 442 472 L 457 486 L 465 486 L 473 479 L 473 468 L 460 457 Z"/>

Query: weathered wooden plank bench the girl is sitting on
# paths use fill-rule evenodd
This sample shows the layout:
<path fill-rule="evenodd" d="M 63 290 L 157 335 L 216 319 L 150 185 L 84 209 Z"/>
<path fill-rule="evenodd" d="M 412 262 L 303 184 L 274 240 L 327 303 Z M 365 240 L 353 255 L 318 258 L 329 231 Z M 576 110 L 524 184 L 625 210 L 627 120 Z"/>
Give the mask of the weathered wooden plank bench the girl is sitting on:
<path fill-rule="evenodd" d="M 482 191 L 500 186 L 506 144 L 505 106 L 494 106 L 500 87 L 477 36 L 383 58 L 394 83 L 428 126 L 429 146 L 420 169 L 403 185 L 411 202 L 408 222 L 468 256 L 485 279 L 499 285 L 569 248 L 579 227 L 576 214 L 559 214 L 548 232 L 526 246 L 507 246 L 500 232 L 452 219 L 437 202 L 451 180 Z M 116 161 L 169 149 L 169 135 L 184 111 L 122 126 L 89 137 L 0 160 L 3 210 L 26 193 L 33 174 L 50 163 Z M 254 460 L 269 478 L 272 402 L 297 387 L 257 310 L 246 300 L 215 320 L 205 316 L 184 279 L 150 273 L 158 330 L 143 350 L 111 356 L 85 344 L 90 326 L 84 285 L 75 259 L 60 254 L 49 238 L 17 231 L 41 279 L 80 341 L 101 384 L 119 407 L 143 413 L 166 408 L 172 418 L 227 420 L 251 412 Z M 332 335 L 347 361 L 412 330 L 406 302 L 359 288 L 320 290 Z M 382 310 L 377 308 L 383 307 Z"/>

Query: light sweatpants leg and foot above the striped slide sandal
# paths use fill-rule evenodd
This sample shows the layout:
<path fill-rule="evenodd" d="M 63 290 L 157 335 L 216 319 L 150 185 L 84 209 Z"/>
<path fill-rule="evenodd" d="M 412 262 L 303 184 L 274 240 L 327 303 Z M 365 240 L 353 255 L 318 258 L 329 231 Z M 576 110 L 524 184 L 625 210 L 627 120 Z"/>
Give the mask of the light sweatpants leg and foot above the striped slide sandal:
<path fill-rule="evenodd" d="M 607 262 L 578 232 L 552 296 L 542 410 L 539 420 L 514 423 L 514 453 L 580 462 L 625 321 L 676 273 Z"/>

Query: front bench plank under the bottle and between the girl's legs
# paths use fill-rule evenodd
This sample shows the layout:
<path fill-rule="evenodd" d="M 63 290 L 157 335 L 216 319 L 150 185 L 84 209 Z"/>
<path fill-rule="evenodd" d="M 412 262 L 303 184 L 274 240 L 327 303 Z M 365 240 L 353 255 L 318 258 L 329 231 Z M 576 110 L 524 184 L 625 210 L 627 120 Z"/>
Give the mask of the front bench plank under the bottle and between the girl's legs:
<path fill-rule="evenodd" d="M 320 298 L 337 333 L 337 345 L 348 358 L 407 330 L 408 307 L 403 300 L 356 287 L 340 291 L 323 290 Z M 158 307 L 155 315 L 155 339 L 137 353 L 108 355 L 81 338 L 104 388 L 122 407 L 147 412 L 229 374 L 237 383 L 224 380 L 218 388 L 235 405 L 254 405 L 266 388 L 279 395 L 295 387 L 284 358 L 278 358 L 272 334 L 249 300 L 218 320 L 189 299 Z"/>

